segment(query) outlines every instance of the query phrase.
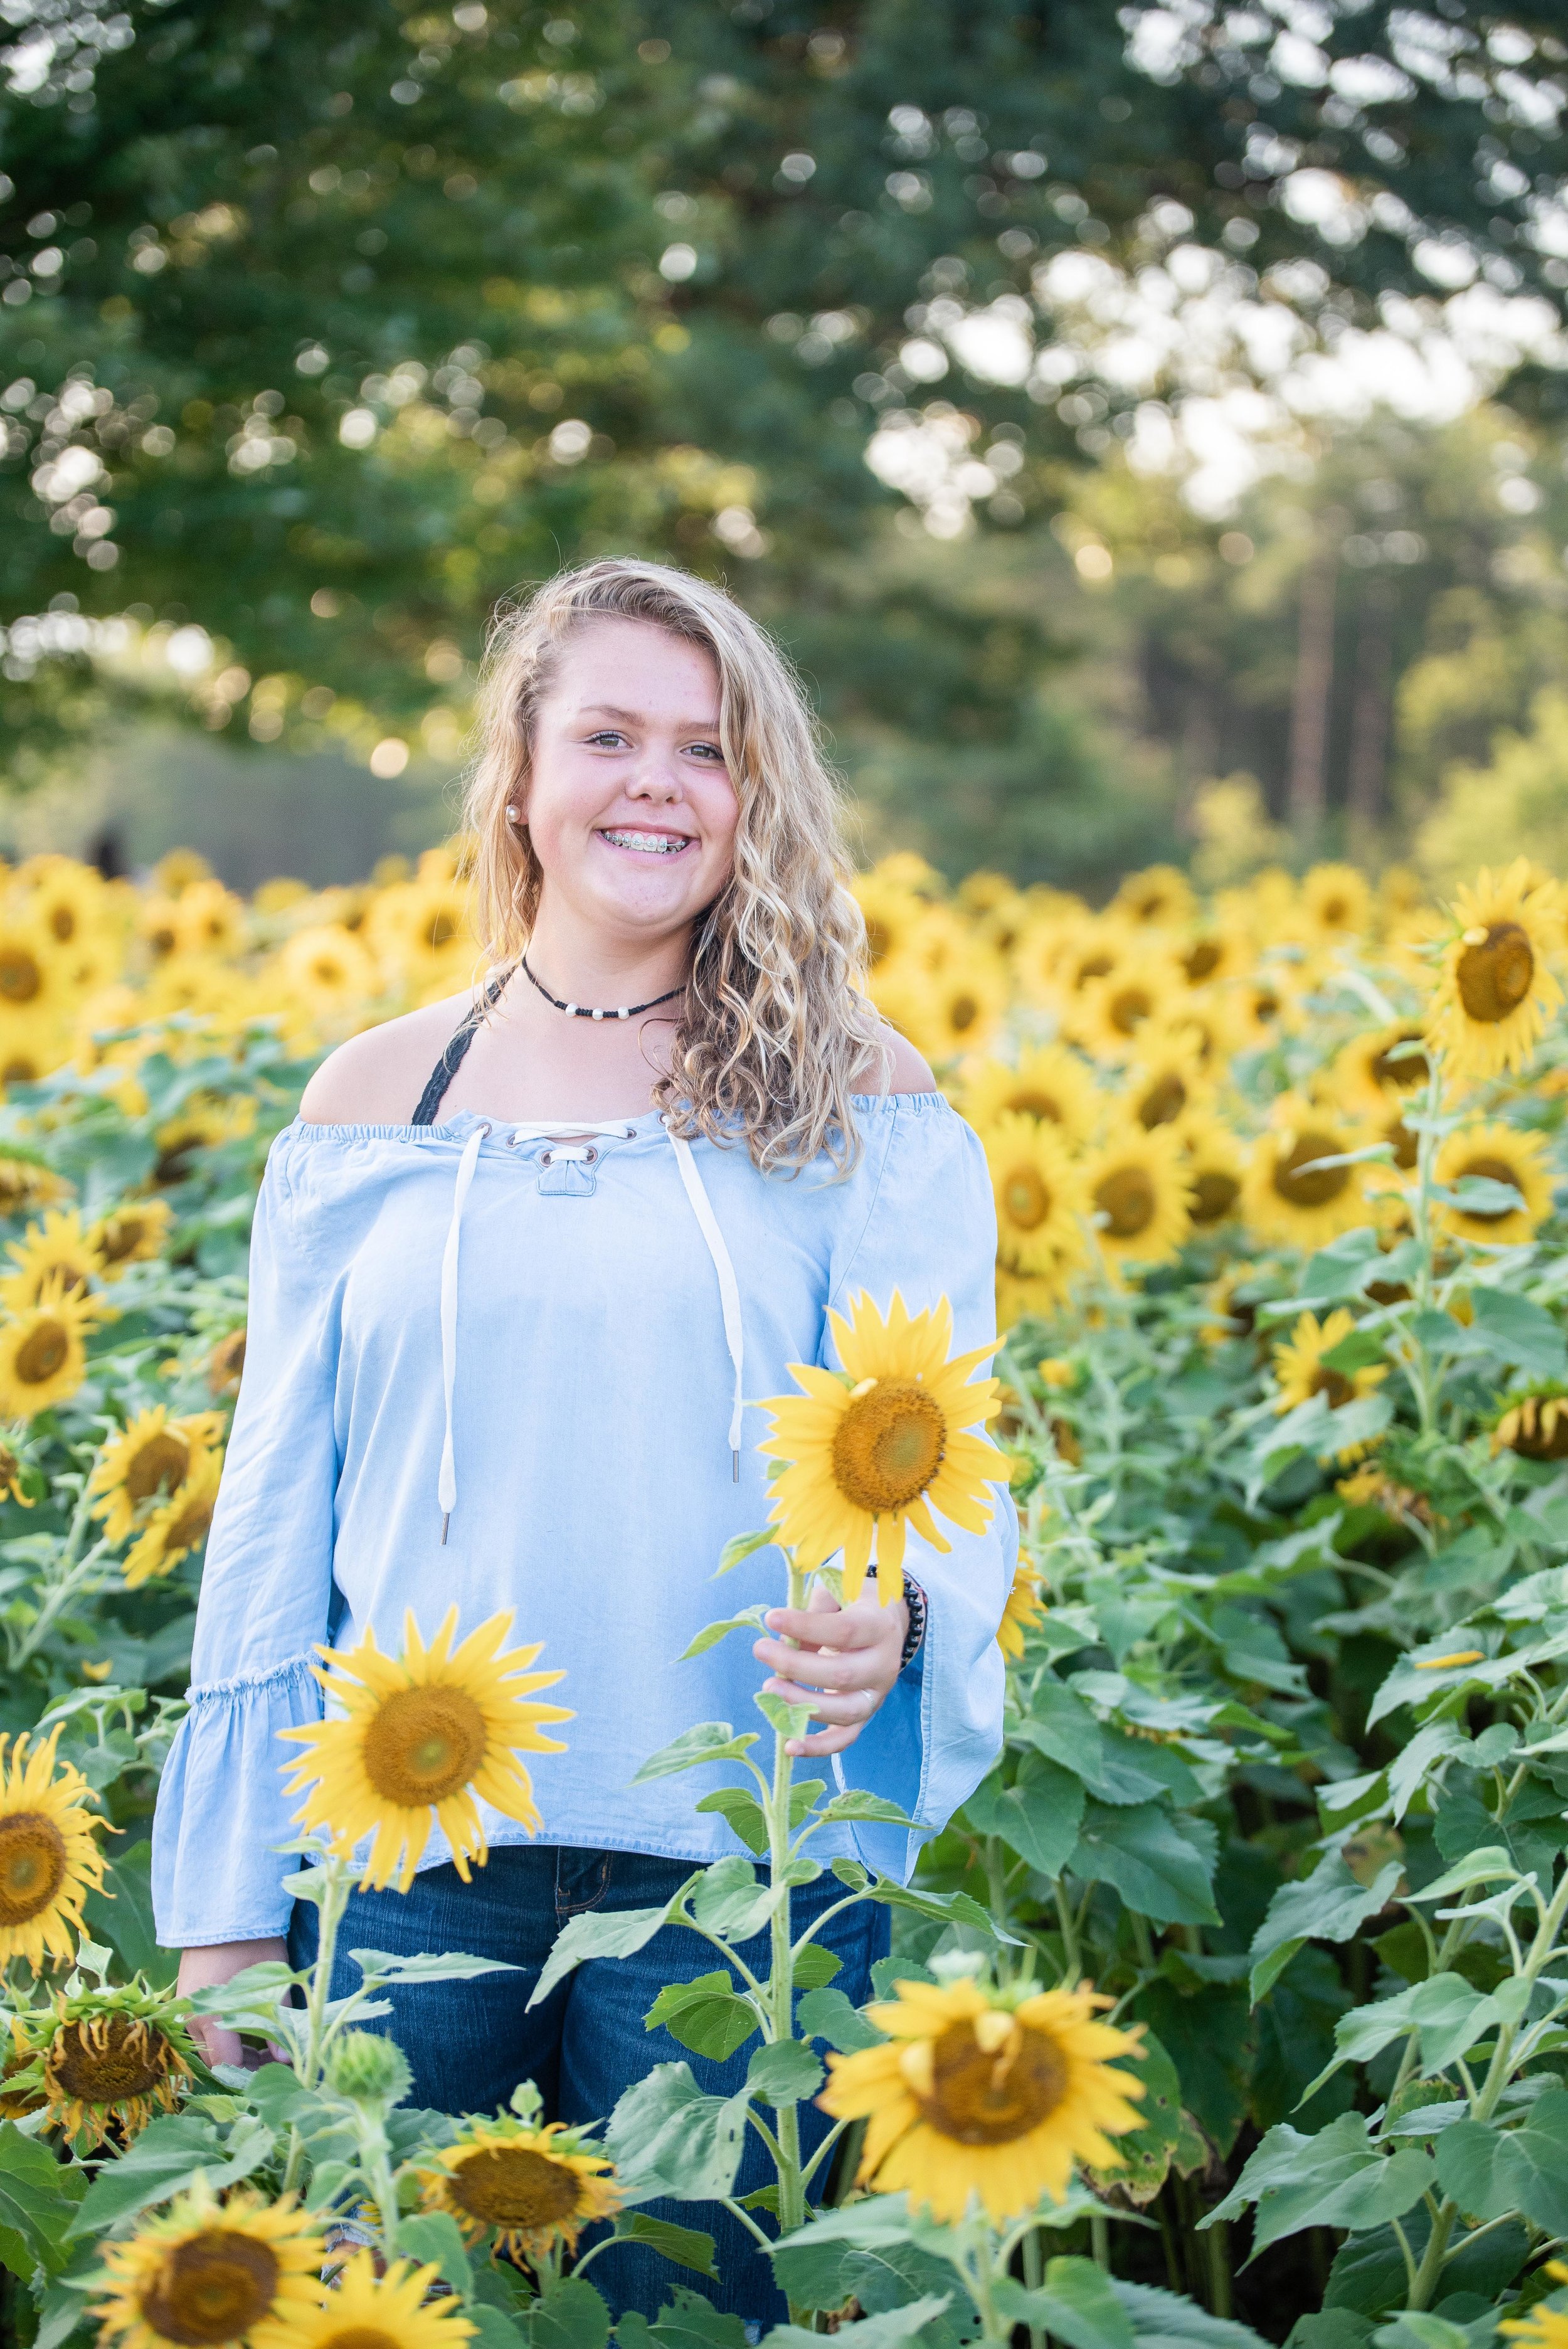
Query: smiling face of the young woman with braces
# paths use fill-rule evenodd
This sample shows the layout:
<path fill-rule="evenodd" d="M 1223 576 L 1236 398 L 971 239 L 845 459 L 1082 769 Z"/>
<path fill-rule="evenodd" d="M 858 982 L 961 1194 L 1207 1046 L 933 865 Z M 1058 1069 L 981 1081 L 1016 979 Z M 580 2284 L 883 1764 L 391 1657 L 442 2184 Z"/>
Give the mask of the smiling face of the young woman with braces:
<path fill-rule="evenodd" d="M 688 930 L 730 879 L 739 817 L 714 658 L 648 620 L 582 625 L 535 712 L 521 813 L 540 911 L 627 940 Z"/>

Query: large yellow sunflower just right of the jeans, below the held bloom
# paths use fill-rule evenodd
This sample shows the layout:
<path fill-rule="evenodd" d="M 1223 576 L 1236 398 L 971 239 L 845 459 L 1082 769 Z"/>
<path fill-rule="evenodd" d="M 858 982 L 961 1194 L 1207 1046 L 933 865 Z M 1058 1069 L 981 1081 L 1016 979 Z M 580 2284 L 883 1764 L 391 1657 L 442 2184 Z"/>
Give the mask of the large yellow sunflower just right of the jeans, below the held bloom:
<path fill-rule="evenodd" d="M 1115 2067 L 1141 2034 L 1094 2020 L 1110 2006 L 1089 1987 L 1005 2004 L 979 1983 L 894 1983 L 866 2013 L 887 2046 L 829 2055 L 817 2098 L 836 2119 L 866 2119 L 859 2178 L 939 2220 L 972 2196 L 1005 2225 L 1045 2194 L 1061 2201 L 1075 2161 L 1115 2168 L 1113 2138 L 1138 2126 L 1143 2081 Z"/>

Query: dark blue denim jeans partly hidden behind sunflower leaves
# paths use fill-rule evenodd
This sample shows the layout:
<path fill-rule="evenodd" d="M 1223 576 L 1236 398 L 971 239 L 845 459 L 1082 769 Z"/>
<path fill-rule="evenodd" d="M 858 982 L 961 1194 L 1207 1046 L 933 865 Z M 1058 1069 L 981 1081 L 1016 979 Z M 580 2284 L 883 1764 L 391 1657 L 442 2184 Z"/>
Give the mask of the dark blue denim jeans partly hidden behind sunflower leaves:
<path fill-rule="evenodd" d="M 530 2079 L 552 2121 L 606 2119 L 615 2100 L 657 2062 L 688 2062 L 709 2095 L 732 2095 L 746 2079 L 758 2041 L 728 2062 L 711 2062 L 678 2046 L 667 2030 L 643 2030 L 643 2015 L 664 1983 L 688 1983 L 718 1966 L 718 1952 L 683 1926 L 664 1926 L 634 1957 L 589 1959 L 577 1966 L 542 2006 L 528 2011 L 556 1933 L 584 1910 L 655 1907 L 690 1875 L 685 1860 L 641 1851 L 577 1851 L 552 1844 L 509 1844 L 491 1853 L 486 1867 L 465 1884 L 455 1867 L 427 1867 L 408 1893 L 354 1893 L 338 1936 L 331 1994 L 345 1997 L 359 1983 L 347 1950 L 465 1950 L 495 1957 L 516 1973 L 486 1973 L 472 1983 L 423 1983 L 387 1992 L 392 2013 L 371 2030 L 390 2032 L 413 2067 L 408 2102 L 439 2112 L 495 2112 L 519 2081 Z M 843 1900 L 843 1884 L 824 1875 L 793 1896 L 796 1933 Z M 819 1936 L 840 1959 L 836 1976 L 852 2004 L 871 1997 L 871 1966 L 887 1952 L 887 1910 L 859 1903 Z M 300 1900 L 293 1910 L 289 1954 L 310 1964 L 317 1947 L 317 1912 Z M 768 1936 L 742 1943 L 742 1957 L 768 1973 Z M 800 2107 L 800 2135 L 812 2152 L 829 2121 L 812 2105 Z M 772 2175 L 768 2152 L 746 2131 L 746 2154 L 737 2194 L 753 2194 Z M 817 2192 L 826 2170 L 815 2180 Z M 716 2241 L 718 2283 L 671 2267 L 643 2243 L 617 2243 L 594 2260 L 592 2281 L 615 2316 L 636 2309 L 657 2316 L 671 2286 L 695 2286 L 737 2316 L 784 2323 L 786 2307 L 772 2281 L 772 2264 L 721 2203 L 655 2201 L 655 2217 L 704 2227 Z M 758 2213 L 765 2225 L 765 2215 Z"/>

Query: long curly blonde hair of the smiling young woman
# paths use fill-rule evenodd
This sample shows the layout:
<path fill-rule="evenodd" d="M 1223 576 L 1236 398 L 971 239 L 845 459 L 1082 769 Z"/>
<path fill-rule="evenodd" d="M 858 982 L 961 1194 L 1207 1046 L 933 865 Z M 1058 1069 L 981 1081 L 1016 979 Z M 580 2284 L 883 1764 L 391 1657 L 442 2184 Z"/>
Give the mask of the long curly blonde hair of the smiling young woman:
<path fill-rule="evenodd" d="M 847 888 L 840 794 L 793 669 L 723 587 L 613 554 L 498 613 L 465 792 L 486 961 L 516 963 L 528 944 L 545 874 L 528 829 L 507 824 L 507 803 L 526 789 L 561 646 L 601 618 L 646 620 L 709 653 L 739 799 L 735 869 L 695 928 L 669 1073 L 653 1099 L 678 1135 L 744 1139 L 765 1174 L 822 1153 L 847 1174 L 859 1158 L 850 1095 L 866 1078 L 885 1088 L 892 1055 L 859 987 L 866 926 Z"/>

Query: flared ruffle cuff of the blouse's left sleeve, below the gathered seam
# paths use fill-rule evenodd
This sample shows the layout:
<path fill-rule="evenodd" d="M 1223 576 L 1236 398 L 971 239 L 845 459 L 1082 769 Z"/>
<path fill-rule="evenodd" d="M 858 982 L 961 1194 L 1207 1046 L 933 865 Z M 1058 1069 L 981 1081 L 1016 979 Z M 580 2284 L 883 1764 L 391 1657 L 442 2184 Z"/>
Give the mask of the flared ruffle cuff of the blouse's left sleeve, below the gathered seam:
<path fill-rule="evenodd" d="M 282 1769 L 298 1757 L 282 1729 L 322 1719 L 310 1658 L 190 1691 L 157 1790 L 153 1910 L 164 1950 L 263 1940 L 289 1929 L 282 1879 L 298 1860 L 277 1846 L 298 1832 Z"/>

